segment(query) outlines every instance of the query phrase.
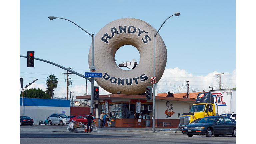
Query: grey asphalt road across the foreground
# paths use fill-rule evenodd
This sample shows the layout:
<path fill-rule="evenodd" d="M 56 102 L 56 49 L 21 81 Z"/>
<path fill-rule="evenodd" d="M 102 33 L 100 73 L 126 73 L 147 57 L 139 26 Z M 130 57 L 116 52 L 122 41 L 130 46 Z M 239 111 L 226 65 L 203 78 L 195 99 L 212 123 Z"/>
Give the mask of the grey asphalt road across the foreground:
<path fill-rule="evenodd" d="M 152 128 L 151 128 L 152 129 Z M 99 128 L 92 133 L 69 133 L 67 126 L 20 126 L 21 144 L 65 144 L 65 143 L 102 143 L 102 144 L 234 144 L 236 137 L 219 136 L 207 138 L 205 135 L 188 137 L 175 133 L 152 133 L 139 131 L 105 131 Z"/>

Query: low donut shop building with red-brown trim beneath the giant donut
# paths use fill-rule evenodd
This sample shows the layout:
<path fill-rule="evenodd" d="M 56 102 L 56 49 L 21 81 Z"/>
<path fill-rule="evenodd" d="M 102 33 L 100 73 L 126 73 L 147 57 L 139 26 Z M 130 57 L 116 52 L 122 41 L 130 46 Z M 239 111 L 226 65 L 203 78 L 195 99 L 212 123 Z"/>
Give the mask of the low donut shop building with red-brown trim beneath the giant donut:
<path fill-rule="evenodd" d="M 174 97 L 168 97 L 163 93 L 155 96 L 155 127 L 178 127 L 178 113 L 188 113 L 189 106 L 195 103 L 198 93 L 190 93 L 189 98 L 183 98 L 185 95 L 186 93 L 174 94 Z M 91 99 L 91 96 L 76 96 L 76 99 Z M 95 109 L 95 122 L 98 126 L 100 114 L 105 112 L 108 113 L 106 126 L 112 115 L 115 127 L 153 127 L 153 100 L 147 100 L 145 95 L 100 95 L 99 100 L 94 100 L 95 104 L 98 104 Z M 146 125 L 146 121 L 150 123 Z"/>

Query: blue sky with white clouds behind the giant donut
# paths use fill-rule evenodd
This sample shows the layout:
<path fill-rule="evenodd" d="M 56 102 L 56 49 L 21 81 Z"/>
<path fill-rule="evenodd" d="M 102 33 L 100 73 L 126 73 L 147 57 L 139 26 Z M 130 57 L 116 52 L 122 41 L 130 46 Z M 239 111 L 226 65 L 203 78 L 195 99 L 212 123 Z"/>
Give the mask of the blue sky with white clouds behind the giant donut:
<path fill-rule="evenodd" d="M 48 16 L 69 19 L 96 35 L 106 24 L 121 18 L 140 19 L 158 30 L 175 12 L 181 14 L 168 19 L 159 31 L 167 48 L 167 64 L 158 93 L 185 93 L 186 81 L 190 81 L 190 92 L 218 88 L 216 73 L 224 73 L 223 88 L 236 87 L 236 1 L 20 1 L 20 55 L 35 51 L 36 58 L 84 74 L 89 72 L 91 36 L 67 20 L 49 20 Z M 133 58 L 139 62 L 139 52 L 129 45 L 121 47 L 115 56 L 117 64 Z M 67 76 L 61 73 L 67 71 L 37 60 L 34 68 L 27 68 L 26 61 L 20 58 L 24 85 L 38 78 L 30 87 L 45 90 L 46 78 L 54 74 L 59 79 L 55 97 L 66 97 Z M 69 78 L 69 91 L 74 92 L 71 95 L 84 95 L 85 79 L 76 75 Z M 100 92 L 108 93 L 103 89 Z"/>

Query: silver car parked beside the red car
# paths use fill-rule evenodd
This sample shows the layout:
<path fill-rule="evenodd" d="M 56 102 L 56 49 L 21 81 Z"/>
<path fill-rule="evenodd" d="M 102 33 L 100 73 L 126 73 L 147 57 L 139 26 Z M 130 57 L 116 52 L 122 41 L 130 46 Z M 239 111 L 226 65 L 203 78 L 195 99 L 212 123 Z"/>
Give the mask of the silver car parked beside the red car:
<path fill-rule="evenodd" d="M 48 117 L 49 125 L 52 125 L 52 124 L 65 125 L 65 124 L 68 124 L 69 121 L 70 121 L 70 118 L 65 114 L 51 114 Z"/>

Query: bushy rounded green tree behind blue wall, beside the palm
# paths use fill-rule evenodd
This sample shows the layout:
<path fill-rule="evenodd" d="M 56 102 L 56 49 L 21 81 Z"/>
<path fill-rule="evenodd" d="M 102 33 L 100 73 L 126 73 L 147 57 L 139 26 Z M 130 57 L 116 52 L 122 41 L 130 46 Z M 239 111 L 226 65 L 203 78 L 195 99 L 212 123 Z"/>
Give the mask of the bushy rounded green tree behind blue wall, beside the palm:
<path fill-rule="evenodd" d="M 40 88 L 36 89 L 36 88 L 32 88 L 32 89 L 26 89 L 24 90 L 24 95 L 26 96 L 26 92 L 27 92 L 27 97 L 28 98 L 44 98 L 44 99 L 48 99 L 50 98 L 50 95 L 48 95 L 47 93 L 45 93 L 43 90 L 41 90 Z M 22 97 L 22 93 L 20 94 L 20 96 Z"/>

